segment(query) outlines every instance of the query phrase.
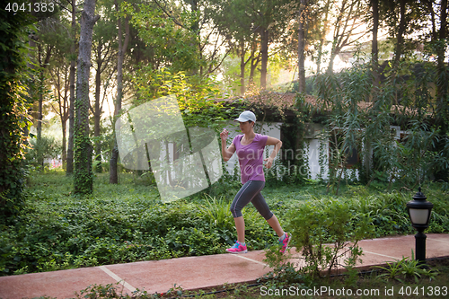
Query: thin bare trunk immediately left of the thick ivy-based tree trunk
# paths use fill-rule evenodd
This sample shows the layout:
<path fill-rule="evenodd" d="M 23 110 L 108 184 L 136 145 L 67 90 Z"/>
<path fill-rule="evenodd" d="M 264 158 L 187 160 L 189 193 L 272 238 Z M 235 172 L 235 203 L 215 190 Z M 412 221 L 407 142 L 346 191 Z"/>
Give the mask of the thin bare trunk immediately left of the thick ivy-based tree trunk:
<path fill-rule="evenodd" d="M 76 5 L 72 0 L 72 47 L 70 48 L 70 103 L 68 109 L 68 142 L 67 142 L 67 159 L 66 159 L 66 175 L 72 175 L 74 172 L 74 135 L 75 135 L 75 51 L 76 51 Z"/>

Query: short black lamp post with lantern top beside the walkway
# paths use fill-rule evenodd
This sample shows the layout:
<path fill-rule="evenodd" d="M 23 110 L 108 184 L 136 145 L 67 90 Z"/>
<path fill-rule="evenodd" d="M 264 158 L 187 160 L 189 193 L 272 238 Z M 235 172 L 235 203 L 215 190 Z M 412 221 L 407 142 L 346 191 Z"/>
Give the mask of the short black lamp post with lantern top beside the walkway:
<path fill-rule="evenodd" d="M 427 197 L 421 192 L 421 187 L 419 187 L 413 200 L 410 200 L 407 203 L 411 225 L 418 231 L 418 233 L 415 234 L 415 259 L 422 264 L 426 262 L 427 238 L 423 231 L 428 227 L 430 213 L 432 207 L 434 207 L 434 204 L 428 202 L 426 199 Z"/>

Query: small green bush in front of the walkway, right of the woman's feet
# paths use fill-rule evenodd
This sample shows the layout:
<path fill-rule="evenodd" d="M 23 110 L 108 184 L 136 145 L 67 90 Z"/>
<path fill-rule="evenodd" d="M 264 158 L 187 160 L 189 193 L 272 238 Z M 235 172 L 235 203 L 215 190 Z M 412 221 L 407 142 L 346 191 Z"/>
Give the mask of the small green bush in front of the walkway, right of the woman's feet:
<path fill-rule="evenodd" d="M 358 215 L 346 200 L 320 199 L 301 204 L 287 215 L 290 244 L 301 248 L 302 272 L 312 277 L 328 274 L 339 265 L 354 267 L 361 255 L 357 242 L 371 236 L 368 216 Z"/>

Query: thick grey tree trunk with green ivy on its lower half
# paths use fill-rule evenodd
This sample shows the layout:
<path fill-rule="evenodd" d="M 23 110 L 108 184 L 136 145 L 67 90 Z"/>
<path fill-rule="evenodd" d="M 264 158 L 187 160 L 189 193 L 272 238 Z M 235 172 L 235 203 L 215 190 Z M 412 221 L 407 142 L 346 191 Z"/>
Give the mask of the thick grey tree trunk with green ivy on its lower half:
<path fill-rule="evenodd" d="M 75 102 L 75 194 L 92 193 L 92 145 L 89 139 L 89 78 L 96 0 L 85 0 L 81 15 Z"/>

